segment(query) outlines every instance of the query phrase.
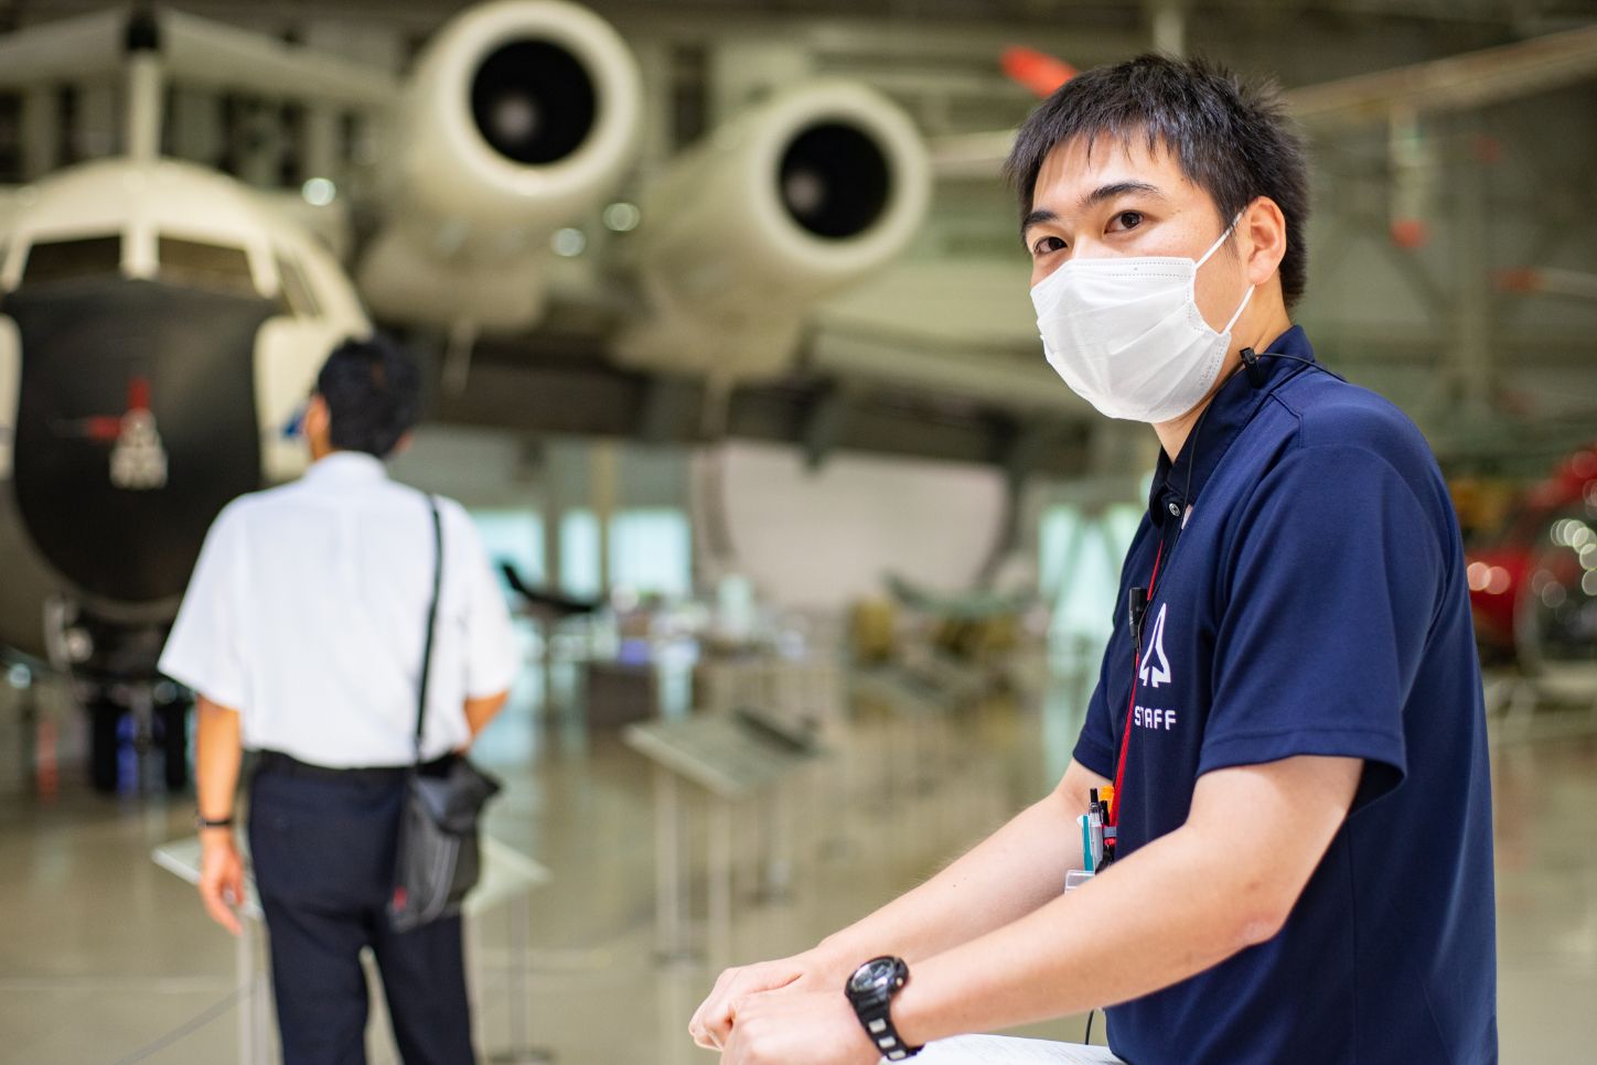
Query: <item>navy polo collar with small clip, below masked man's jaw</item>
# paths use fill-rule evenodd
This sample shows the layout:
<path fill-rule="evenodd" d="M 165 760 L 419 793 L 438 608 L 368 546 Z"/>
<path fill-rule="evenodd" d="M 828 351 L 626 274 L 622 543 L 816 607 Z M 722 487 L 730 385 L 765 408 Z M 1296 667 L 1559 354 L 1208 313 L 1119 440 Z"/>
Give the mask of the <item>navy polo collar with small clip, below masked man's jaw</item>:
<path fill-rule="evenodd" d="M 1298 359 L 1314 359 L 1314 348 L 1302 326 L 1292 326 L 1276 337 L 1270 346 L 1260 353 L 1258 367 L 1265 374 L 1262 385 L 1254 385 L 1246 370 L 1231 374 L 1220 391 L 1215 393 L 1204 410 L 1193 433 L 1187 437 L 1180 453 L 1172 461 L 1164 450 L 1159 450 L 1159 465 L 1153 473 L 1153 485 L 1148 489 L 1148 517 L 1155 525 L 1163 527 L 1166 519 L 1180 517 L 1187 508 L 1203 493 L 1204 484 L 1225 458 L 1231 441 L 1242 431 L 1252 417 L 1265 406 L 1270 394 L 1289 377 L 1308 369 L 1294 359 L 1271 359 L 1268 353 L 1292 354 Z"/>

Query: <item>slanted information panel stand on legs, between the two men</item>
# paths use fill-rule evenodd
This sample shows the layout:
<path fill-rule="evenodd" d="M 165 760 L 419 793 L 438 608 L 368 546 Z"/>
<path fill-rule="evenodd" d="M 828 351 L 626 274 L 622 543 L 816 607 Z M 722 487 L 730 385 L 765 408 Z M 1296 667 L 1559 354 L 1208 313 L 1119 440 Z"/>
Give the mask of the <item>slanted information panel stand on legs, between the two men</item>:
<path fill-rule="evenodd" d="M 626 744 L 655 763 L 655 931 L 663 963 L 701 955 L 688 940 L 687 869 L 682 861 L 682 792 L 687 781 L 709 797 L 707 810 L 707 950 L 731 956 L 733 810 L 770 795 L 775 786 L 821 754 L 806 736 L 786 731 L 749 711 L 704 714 L 674 722 L 632 725 Z M 786 824 L 781 816 L 775 824 Z M 784 864 L 781 848 L 768 862 Z"/>

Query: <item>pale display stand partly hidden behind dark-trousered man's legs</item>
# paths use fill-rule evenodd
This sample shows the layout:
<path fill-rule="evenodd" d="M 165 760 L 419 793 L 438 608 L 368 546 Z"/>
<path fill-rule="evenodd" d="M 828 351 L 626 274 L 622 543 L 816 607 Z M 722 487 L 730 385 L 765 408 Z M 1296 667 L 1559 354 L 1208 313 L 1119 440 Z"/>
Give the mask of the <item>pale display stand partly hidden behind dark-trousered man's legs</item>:
<path fill-rule="evenodd" d="M 240 835 L 240 848 L 246 845 Z M 200 837 L 185 837 L 163 843 L 150 853 L 157 865 L 185 880 L 190 885 L 200 883 Z M 244 853 L 248 869 L 248 851 Z M 530 901 L 532 893 L 549 883 L 549 870 L 525 854 L 498 843 L 492 837 L 482 838 L 482 878 L 466 896 L 465 912 L 476 917 L 497 905 L 509 905 L 509 956 L 511 964 L 506 972 L 505 990 L 509 1004 L 509 1047 L 490 1055 L 493 1062 L 509 1065 L 527 1065 L 532 1062 L 551 1062 L 554 1055 L 530 1044 L 529 1019 L 529 972 L 527 947 L 530 939 Z M 262 923 L 260 899 L 256 894 L 256 878 L 244 875 L 244 901 L 238 907 L 238 915 L 244 918 L 243 931 L 238 936 L 235 956 L 235 972 L 238 980 L 238 1060 L 240 1065 L 265 1063 L 270 1059 L 268 1038 L 271 1019 L 268 1016 L 267 982 L 257 964 L 257 936 Z"/>

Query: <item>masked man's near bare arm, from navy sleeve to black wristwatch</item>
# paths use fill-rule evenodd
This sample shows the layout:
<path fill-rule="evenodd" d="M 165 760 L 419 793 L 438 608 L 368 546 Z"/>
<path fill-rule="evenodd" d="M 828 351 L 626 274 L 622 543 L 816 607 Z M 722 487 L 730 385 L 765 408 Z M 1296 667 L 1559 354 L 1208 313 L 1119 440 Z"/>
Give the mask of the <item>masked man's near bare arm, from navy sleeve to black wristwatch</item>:
<path fill-rule="evenodd" d="M 1110 1006 L 1274 936 L 1353 803 L 1362 762 L 1203 776 L 1187 822 L 1020 920 L 928 958 L 893 1006 L 910 1043 Z"/>

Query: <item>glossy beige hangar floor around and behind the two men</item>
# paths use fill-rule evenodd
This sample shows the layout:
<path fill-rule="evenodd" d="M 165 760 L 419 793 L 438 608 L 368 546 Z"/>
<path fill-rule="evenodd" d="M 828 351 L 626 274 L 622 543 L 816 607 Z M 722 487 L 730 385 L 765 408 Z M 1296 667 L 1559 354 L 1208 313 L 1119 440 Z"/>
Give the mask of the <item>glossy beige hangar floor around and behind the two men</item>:
<path fill-rule="evenodd" d="M 570 1065 L 714 1062 L 684 1031 L 722 960 L 656 961 L 648 765 L 615 733 L 538 714 L 537 688 L 530 675 L 482 742 L 484 762 L 508 782 L 489 832 L 554 873 L 530 904 L 530 1041 Z M 1052 680 L 1044 691 L 955 717 L 859 714 L 848 742 L 789 786 L 792 864 L 779 897 L 759 891 L 759 856 L 739 849 L 730 956 L 814 942 L 1046 789 L 1068 757 L 1080 685 Z M 193 889 L 149 859 L 153 846 L 188 833 L 192 800 L 101 798 L 72 766 L 51 781 L 50 752 L 70 752 L 80 725 L 59 690 L 35 693 L 43 742 L 22 728 L 19 693 L 0 687 L 0 1062 L 238 1060 L 235 945 L 206 920 Z M 918 768 L 888 757 L 910 730 Z M 34 768 L 40 752 L 43 776 Z M 894 766 L 885 782 L 882 765 Z M 1568 712 L 1549 728 L 1519 725 L 1495 744 L 1495 776 L 1503 1060 L 1594 1060 L 1597 730 L 1589 715 Z M 735 824 L 760 838 L 770 822 L 743 808 Z M 696 864 L 703 832 L 690 830 L 684 849 Z M 690 897 L 699 915 L 704 896 L 698 877 Z M 485 1060 L 511 1038 L 508 937 L 505 912 L 476 920 Z M 616 1003 L 624 1025 L 605 1020 Z M 1027 1033 L 1080 1038 L 1081 1028 L 1072 1017 Z M 375 1063 L 394 1060 L 380 1014 L 369 1044 Z"/>

